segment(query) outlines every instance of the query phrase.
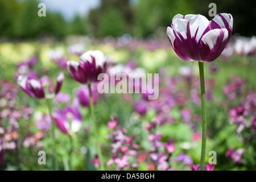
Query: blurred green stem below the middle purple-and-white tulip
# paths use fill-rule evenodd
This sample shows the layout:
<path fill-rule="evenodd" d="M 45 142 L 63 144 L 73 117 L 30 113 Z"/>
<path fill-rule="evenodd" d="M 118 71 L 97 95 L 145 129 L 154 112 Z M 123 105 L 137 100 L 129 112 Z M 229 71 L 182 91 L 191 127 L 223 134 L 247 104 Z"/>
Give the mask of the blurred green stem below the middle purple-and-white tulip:
<path fill-rule="evenodd" d="M 97 123 L 96 123 L 96 119 L 95 119 L 95 115 L 94 115 L 94 106 L 93 106 L 93 100 L 92 100 L 92 90 L 90 88 L 90 84 L 88 84 L 89 87 L 89 94 L 90 94 L 90 113 L 92 115 L 92 120 L 93 120 L 93 130 L 94 130 L 94 137 L 96 139 L 96 145 L 97 145 L 97 151 L 98 151 L 98 158 L 100 159 L 100 169 L 101 171 L 105 171 L 105 167 L 104 167 L 104 160 L 103 160 L 103 156 L 102 156 L 102 152 L 101 152 L 101 147 L 100 147 L 100 143 L 98 140 L 98 130 L 97 130 Z"/>

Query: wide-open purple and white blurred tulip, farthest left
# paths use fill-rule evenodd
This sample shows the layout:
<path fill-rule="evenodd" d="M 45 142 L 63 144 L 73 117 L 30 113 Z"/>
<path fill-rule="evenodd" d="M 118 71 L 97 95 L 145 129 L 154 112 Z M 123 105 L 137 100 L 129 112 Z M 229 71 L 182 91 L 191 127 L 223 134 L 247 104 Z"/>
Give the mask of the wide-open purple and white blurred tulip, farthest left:
<path fill-rule="evenodd" d="M 57 83 L 55 89 L 53 89 L 53 85 L 51 80 L 47 76 L 43 76 L 40 78 L 31 78 L 27 76 L 20 75 L 18 77 L 18 85 L 31 97 L 35 98 L 47 98 L 55 96 L 60 92 L 61 85 L 64 80 L 64 73 L 61 72 L 57 76 Z M 48 87 L 48 88 L 46 88 Z M 47 93 L 46 93 L 47 91 Z"/>

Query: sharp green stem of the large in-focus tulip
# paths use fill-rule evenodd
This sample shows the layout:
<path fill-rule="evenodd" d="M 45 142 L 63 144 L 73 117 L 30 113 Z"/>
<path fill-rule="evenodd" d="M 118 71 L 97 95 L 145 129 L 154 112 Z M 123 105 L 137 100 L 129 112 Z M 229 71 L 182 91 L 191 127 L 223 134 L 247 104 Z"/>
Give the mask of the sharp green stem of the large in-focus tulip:
<path fill-rule="evenodd" d="M 204 88 L 204 62 L 198 62 L 200 73 L 200 86 L 201 86 L 201 104 L 202 104 L 202 148 L 201 148 L 201 160 L 200 171 L 204 171 L 205 163 L 205 150 L 207 141 L 207 114 L 206 114 L 206 101 L 205 101 L 205 88 Z"/>

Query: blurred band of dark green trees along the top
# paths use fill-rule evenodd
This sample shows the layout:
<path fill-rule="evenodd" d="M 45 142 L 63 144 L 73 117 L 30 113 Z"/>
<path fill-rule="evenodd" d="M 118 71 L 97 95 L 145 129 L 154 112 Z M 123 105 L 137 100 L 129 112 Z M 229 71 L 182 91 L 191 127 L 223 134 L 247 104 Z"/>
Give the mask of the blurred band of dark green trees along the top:
<path fill-rule="evenodd" d="M 38 16 L 38 4 L 46 3 L 46 17 Z M 230 13 L 234 18 L 234 33 L 243 36 L 255 34 L 256 1 L 191 1 L 191 0 L 86 0 L 80 11 L 88 9 L 89 4 L 97 2 L 86 14 L 74 11 L 71 18 L 65 14 L 71 11 L 53 11 L 55 3 L 72 6 L 76 1 L 47 0 L 0 0 L 0 37 L 1 38 L 42 38 L 54 36 L 64 38 L 67 35 L 121 36 L 129 33 L 147 38 L 154 34 L 163 36 L 170 26 L 174 15 L 202 14 L 209 17 L 209 3 L 216 3 L 217 13 Z M 64 5 L 63 5 L 64 6 Z"/>

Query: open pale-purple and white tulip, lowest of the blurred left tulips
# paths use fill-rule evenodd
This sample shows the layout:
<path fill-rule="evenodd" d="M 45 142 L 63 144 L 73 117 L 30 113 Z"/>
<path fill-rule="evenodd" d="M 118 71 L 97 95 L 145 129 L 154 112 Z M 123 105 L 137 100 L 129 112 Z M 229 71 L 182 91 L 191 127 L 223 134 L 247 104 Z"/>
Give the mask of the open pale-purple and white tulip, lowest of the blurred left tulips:
<path fill-rule="evenodd" d="M 70 131 L 77 132 L 82 126 L 79 101 L 75 99 L 73 104 L 67 106 L 64 110 L 56 109 L 53 111 L 52 117 L 57 127 L 59 127 L 60 131 L 64 134 L 68 134 Z M 71 127 L 69 119 L 71 119 Z"/>

